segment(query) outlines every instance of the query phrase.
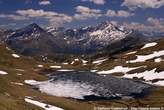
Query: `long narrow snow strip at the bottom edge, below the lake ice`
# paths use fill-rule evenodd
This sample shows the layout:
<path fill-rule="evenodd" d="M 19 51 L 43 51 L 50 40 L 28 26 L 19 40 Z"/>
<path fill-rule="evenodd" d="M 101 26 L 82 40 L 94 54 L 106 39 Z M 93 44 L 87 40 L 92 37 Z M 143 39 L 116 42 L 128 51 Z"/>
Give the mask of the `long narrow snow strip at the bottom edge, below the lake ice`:
<path fill-rule="evenodd" d="M 38 107 L 41 107 L 45 110 L 64 110 L 62 108 L 52 106 L 52 105 L 49 105 L 49 104 L 45 104 L 45 103 L 42 103 L 42 102 L 39 102 L 39 101 L 35 101 L 35 100 L 29 99 L 29 98 L 25 98 L 24 100 L 25 100 L 25 102 L 34 104 L 34 105 L 36 105 Z"/>

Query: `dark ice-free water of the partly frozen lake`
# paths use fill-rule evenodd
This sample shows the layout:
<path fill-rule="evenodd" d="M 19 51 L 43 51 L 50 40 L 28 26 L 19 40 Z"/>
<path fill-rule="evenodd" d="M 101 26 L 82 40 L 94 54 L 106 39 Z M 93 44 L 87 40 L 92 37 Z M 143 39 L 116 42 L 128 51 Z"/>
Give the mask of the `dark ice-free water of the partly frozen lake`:
<path fill-rule="evenodd" d="M 85 99 L 104 98 L 121 98 L 124 96 L 138 97 L 147 94 L 151 88 L 150 85 L 142 82 L 135 82 L 129 79 L 116 78 L 110 75 L 102 76 L 91 72 L 55 72 L 50 76 L 52 82 L 72 81 L 74 83 L 85 83 L 92 87 L 90 96 L 84 96 Z"/>

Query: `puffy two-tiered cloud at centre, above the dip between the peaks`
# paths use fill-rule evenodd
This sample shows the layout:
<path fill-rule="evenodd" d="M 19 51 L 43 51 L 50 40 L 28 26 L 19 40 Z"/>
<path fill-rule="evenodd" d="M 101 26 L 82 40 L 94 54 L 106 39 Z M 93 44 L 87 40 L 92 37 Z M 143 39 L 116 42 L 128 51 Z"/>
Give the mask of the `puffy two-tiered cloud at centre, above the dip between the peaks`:
<path fill-rule="evenodd" d="M 77 13 L 74 15 L 74 18 L 77 20 L 97 19 L 102 16 L 101 10 L 99 9 L 90 9 L 85 6 L 77 6 L 75 9 Z"/>

